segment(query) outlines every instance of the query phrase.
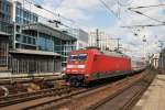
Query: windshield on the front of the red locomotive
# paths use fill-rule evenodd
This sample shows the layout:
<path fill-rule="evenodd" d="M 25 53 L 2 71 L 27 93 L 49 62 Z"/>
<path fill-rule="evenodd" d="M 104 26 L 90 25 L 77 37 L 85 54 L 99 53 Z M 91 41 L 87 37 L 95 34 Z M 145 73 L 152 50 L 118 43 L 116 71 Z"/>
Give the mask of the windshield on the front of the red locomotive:
<path fill-rule="evenodd" d="M 86 61 L 87 54 L 70 55 L 70 61 Z"/>

